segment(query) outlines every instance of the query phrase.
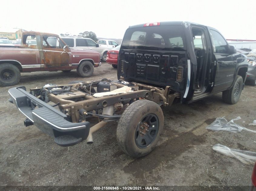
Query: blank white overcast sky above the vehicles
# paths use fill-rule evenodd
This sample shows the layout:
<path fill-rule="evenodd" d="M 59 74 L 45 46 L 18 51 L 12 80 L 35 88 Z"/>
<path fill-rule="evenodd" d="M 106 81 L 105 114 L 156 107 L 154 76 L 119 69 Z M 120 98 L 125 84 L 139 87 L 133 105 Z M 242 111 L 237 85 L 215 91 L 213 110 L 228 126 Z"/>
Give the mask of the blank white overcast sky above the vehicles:
<path fill-rule="evenodd" d="M 214 27 L 227 39 L 256 40 L 255 7 L 255 0 L 7 0 L 1 1 L 0 27 L 123 38 L 130 25 L 191 21 Z"/>

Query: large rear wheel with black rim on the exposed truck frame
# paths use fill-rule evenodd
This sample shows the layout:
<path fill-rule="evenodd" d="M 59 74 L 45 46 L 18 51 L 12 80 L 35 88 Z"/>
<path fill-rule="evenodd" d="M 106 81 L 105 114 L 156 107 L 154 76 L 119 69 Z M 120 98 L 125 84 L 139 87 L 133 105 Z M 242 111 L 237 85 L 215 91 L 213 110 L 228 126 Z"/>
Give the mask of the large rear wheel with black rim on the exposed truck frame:
<path fill-rule="evenodd" d="M 133 158 L 143 157 L 153 150 L 163 127 L 164 115 L 157 103 L 149 100 L 135 101 L 126 108 L 118 122 L 118 145 Z"/>

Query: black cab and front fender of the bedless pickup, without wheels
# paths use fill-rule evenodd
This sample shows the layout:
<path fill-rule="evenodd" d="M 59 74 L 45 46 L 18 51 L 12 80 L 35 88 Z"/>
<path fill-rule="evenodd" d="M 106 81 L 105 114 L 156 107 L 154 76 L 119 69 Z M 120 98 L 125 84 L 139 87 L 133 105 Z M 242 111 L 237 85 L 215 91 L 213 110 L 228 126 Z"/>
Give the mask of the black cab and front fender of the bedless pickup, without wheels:
<path fill-rule="evenodd" d="M 170 86 L 181 94 L 181 103 L 229 90 L 238 75 L 241 93 L 247 69 L 246 57 L 218 30 L 190 22 L 131 26 L 118 55 L 118 78 Z"/>

